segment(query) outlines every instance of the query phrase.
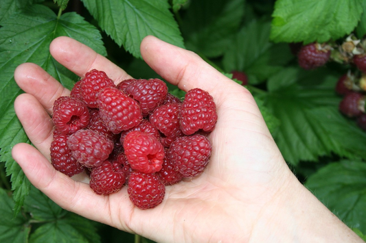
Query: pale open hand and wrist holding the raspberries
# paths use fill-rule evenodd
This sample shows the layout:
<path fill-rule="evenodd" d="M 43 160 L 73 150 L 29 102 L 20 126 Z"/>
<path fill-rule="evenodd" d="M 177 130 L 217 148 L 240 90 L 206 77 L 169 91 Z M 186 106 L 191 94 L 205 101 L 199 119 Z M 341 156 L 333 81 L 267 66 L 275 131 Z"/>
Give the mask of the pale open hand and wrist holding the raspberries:
<path fill-rule="evenodd" d="M 119 83 L 130 76 L 89 47 L 67 37 L 50 45 L 53 57 L 82 77 L 93 68 Z M 127 188 L 95 194 L 86 175 L 69 178 L 49 162 L 52 104 L 69 90 L 36 64 L 14 73 L 25 94 L 14 103 L 32 141 L 12 156 L 27 178 L 60 207 L 156 242 L 363 242 L 299 183 L 284 161 L 251 94 L 198 55 L 155 37 L 141 43 L 144 60 L 165 80 L 214 97 L 218 121 L 203 174 L 166 187 L 163 203 L 138 209 Z"/>

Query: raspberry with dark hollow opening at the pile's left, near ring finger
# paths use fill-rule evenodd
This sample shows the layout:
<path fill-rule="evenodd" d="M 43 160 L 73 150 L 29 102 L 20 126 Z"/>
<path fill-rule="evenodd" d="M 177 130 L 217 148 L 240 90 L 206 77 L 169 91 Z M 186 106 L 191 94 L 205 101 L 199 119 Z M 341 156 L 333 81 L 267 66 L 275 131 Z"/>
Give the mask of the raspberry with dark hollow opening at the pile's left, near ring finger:
<path fill-rule="evenodd" d="M 53 111 L 52 121 L 60 133 L 71 134 L 89 124 L 89 109 L 77 99 L 59 97 L 54 102 Z"/>

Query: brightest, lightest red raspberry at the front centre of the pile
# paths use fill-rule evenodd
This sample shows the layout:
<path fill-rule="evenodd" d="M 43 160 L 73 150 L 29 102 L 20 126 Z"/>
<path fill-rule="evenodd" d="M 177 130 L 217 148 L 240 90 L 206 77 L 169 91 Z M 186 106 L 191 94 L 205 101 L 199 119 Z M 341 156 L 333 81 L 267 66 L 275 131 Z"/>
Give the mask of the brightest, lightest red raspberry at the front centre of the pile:
<path fill-rule="evenodd" d="M 131 168 L 144 173 L 159 171 L 165 155 L 159 140 L 141 131 L 131 131 L 126 135 L 124 153 Z"/>

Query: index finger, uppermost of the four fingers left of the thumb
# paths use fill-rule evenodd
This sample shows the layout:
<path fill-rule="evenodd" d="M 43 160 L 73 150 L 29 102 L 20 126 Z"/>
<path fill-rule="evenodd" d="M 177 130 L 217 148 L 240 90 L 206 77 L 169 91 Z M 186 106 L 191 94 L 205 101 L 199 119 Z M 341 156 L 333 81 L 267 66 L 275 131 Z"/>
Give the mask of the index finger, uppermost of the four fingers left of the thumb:
<path fill-rule="evenodd" d="M 91 69 L 104 71 L 116 84 L 131 78 L 122 68 L 96 53 L 85 44 L 72 38 L 61 36 L 54 39 L 49 46 L 52 56 L 76 75 L 83 77 Z"/>

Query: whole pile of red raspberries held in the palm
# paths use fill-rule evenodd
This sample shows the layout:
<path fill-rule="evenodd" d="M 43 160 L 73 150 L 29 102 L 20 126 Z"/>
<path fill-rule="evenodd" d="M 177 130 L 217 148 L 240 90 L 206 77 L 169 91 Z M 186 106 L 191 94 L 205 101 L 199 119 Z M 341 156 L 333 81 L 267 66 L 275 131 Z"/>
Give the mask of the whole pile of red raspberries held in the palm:
<path fill-rule="evenodd" d="M 135 206 L 156 207 L 165 186 L 205 169 L 212 149 L 207 134 L 216 120 L 216 105 L 204 90 L 194 88 L 181 101 L 161 79 L 116 86 L 93 69 L 70 97 L 54 102 L 52 165 L 69 177 L 86 171 L 96 194 L 127 186 Z"/>

